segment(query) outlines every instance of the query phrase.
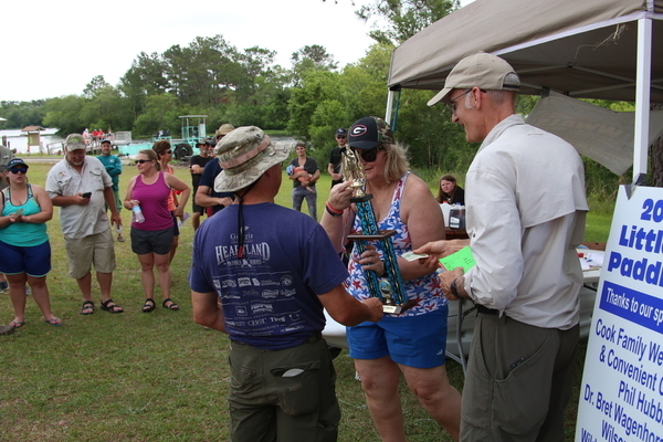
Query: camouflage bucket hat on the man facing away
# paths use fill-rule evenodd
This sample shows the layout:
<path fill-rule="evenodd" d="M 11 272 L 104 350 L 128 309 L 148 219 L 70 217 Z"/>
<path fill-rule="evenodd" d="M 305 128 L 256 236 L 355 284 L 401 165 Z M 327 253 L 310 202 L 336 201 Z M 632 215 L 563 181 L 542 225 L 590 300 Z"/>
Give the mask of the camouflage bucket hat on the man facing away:
<path fill-rule="evenodd" d="M 234 192 L 257 181 L 272 166 L 285 160 L 290 146 L 276 146 L 260 127 L 238 127 L 214 148 L 221 173 L 214 180 L 214 191 Z"/>

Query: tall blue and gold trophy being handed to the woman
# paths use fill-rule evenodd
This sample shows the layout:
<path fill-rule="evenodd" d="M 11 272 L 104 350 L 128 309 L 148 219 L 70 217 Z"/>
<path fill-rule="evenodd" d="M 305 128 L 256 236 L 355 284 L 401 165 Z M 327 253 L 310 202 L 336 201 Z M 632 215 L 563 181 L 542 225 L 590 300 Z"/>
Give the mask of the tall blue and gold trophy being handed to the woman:
<path fill-rule="evenodd" d="M 359 122 L 354 126 L 357 126 Z M 350 134 L 352 128 L 350 128 Z M 372 194 L 366 193 L 364 190 L 366 175 L 364 165 L 359 161 L 357 152 L 348 147 L 341 155 L 343 176 L 346 181 L 352 182 L 350 187 L 355 189 L 355 196 L 350 198 L 350 201 L 357 208 L 357 217 L 361 224 L 361 233 L 348 235 L 348 240 L 355 241 L 359 254 L 366 251 L 366 245 L 369 242 L 376 241 L 381 244 L 385 275 L 380 278 L 375 271 L 367 270 L 365 271 L 366 281 L 371 296 L 379 297 L 382 302 L 382 311 L 385 313 L 400 314 L 412 307 L 417 302 L 409 301 L 403 290 L 403 281 L 391 241 L 391 236 L 396 234 L 396 231 L 378 230 L 378 222 L 376 221 L 376 215 L 370 203 Z"/>

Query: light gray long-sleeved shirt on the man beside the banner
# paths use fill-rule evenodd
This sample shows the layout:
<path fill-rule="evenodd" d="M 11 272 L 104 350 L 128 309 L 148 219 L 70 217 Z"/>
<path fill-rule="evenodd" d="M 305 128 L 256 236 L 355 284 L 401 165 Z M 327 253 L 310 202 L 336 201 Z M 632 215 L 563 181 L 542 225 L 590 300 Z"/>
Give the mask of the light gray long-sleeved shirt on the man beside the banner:
<path fill-rule="evenodd" d="M 576 149 L 512 115 L 481 145 L 465 186 L 476 260 L 465 291 L 525 324 L 575 326 L 582 284 L 576 246 L 588 210 Z"/>

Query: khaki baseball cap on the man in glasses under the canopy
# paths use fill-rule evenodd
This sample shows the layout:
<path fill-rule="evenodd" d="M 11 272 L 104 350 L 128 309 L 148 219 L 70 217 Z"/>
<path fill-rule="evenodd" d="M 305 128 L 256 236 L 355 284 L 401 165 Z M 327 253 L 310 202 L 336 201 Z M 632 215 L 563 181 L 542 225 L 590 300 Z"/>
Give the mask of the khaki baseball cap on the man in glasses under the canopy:
<path fill-rule="evenodd" d="M 511 82 L 505 82 L 507 74 L 514 74 Z M 478 87 L 486 91 L 513 91 L 520 88 L 518 74 L 511 64 L 497 55 L 485 52 L 467 55 L 454 66 L 444 81 L 444 88 L 428 102 L 433 106 L 440 102 L 446 103 L 453 90 L 471 90 Z M 517 80 L 517 81 L 513 81 Z"/>

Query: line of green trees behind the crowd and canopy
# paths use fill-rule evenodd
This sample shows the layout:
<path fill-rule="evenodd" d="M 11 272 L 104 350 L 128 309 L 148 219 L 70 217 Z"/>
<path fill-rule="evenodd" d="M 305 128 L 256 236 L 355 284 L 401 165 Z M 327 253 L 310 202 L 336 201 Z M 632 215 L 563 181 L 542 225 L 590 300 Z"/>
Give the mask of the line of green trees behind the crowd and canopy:
<path fill-rule="evenodd" d="M 347 128 L 367 115 L 385 115 L 393 48 L 459 6 L 457 0 L 365 3 L 356 11 L 358 17 L 381 19 L 370 32 L 376 43 L 366 56 L 344 67 L 317 44 L 293 53 L 286 69 L 274 63 L 274 51 L 238 50 L 222 35 L 198 36 L 162 53 L 140 52 L 117 85 L 97 75 L 80 95 L 0 102 L 0 115 L 7 118 L 4 128 L 40 125 L 57 127 L 61 135 L 85 128 L 131 130 L 134 138 L 160 129 L 177 137 L 180 115 L 208 115 L 210 134 L 230 123 L 304 139 L 324 169 L 336 128 Z M 427 106 L 431 96 L 430 91 L 400 92 L 396 138 L 409 147 L 414 168 L 466 170 L 477 146 L 465 141 L 462 127 L 451 123 L 443 106 Z M 535 97 L 522 97 L 518 112 L 527 113 L 535 102 Z M 586 159 L 586 164 L 602 182 L 615 180 L 593 161 Z"/>

